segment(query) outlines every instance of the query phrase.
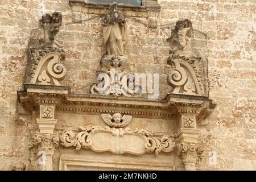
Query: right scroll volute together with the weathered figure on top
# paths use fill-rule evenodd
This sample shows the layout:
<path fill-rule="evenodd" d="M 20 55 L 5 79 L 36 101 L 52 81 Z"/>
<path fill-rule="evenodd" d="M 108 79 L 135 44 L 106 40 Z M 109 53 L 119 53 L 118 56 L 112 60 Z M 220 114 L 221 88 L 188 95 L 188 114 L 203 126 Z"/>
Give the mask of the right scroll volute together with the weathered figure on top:
<path fill-rule="evenodd" d="M 167 83 L 174 88 L 172 93 L 207 96 L 207 60 L 192 54 L 192 30 L 189 19 L 179 20 L 167 39 L 171 47 L 171 55 L 167 59 L 171 72 L 168 73 Z"/>

